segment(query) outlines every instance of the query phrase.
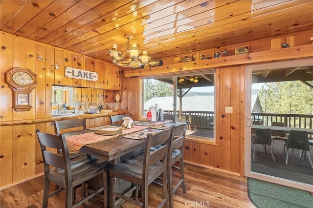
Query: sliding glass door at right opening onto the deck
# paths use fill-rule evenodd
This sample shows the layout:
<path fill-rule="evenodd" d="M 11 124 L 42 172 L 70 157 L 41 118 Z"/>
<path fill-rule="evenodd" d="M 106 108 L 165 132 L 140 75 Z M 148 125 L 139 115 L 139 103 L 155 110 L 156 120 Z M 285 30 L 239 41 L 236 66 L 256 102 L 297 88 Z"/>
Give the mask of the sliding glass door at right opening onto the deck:
<path fill-rule="evenodd" d="M 313 168 L 308 155 L 303 150 L 289 149 L 286 164 L 285 142 L 288 141 L 289 132 L 271 129 L 270 146 L 253 144 L 260 137 L 258 134 L 261 130 L 258 128 L 279 125 L 312 130 L 312 60 L 246 66 L 245 114 L 245 175 L 312 191 Z M 313 144 L 313 134 L 308 136 L 310 144 Z M 309 154 L 313 160 L 313 146 L 310 147 Z"/>

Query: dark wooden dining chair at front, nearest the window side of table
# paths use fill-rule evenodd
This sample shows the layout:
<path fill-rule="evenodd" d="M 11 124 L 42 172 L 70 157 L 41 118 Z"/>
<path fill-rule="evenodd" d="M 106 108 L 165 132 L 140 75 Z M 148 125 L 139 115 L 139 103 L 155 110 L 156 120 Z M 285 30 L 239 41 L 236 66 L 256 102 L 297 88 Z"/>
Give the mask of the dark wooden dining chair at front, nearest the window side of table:
<path fill-rule="evenodd" d="M 115 207 L 115 197 L 119 197 L 131 204 L 141 208 L 148 208 L 148 186 L 159 175 L 162 175 L 163 182 L 167 182 L 167 159 L 168 150 L 171 148 L 171 141 L 173 140 L 173 129 L 159 131 L 157 133 L 149 132 L 146 138 L 145 151 L 137 154 L 125 161 L 110 167 L 110 206 Z M 152 146 L 163 145 L 155 151 L 150 151 Z M 162 161 L 162 162 L 161 162 Z M 115 190 L 115 180 L 120 178 L 129 181 L 141 187 L 142 202 L 136 201 L 133 198 L 127 197 Z M 163 186 L 164 198 L 159 207 L 164 204 L 166 208 L 169 207 L 169 192 L 168 187 Z"/>

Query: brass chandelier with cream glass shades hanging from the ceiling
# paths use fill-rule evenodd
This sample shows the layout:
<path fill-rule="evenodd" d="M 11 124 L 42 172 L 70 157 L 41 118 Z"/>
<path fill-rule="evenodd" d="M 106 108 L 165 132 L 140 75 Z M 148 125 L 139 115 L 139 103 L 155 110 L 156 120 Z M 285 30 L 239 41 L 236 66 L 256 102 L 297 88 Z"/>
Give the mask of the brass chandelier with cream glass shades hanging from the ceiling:
<path fill-rule="evenodd" d="M 133 38 L 133 36 L 126 34 L 124 35 L 124 37 L 127 39 L 126 43 L 127 48 L 123 55 L 121 52 L 117 50 L 116 44 L 113 44 L 112 49 L 107 51 L 110 54 L 110 58 L 112 59 L 113 63 L 115 65 L 132 68 L 139 67 L 141 65 L 147 65 L 148 61 L 151 59 L 147 55 L 147 51 L 143 51 L 142 56 L 138 57 L 138 55 L 141 54 L 141 51 L 137 49 L 137 44 L 133 43 L 132 48 L 129 47 L 130 46 L 129 41 Z M 126 53 L 129 53 L 130 55 L 129 59 L 125 58 Z M 138 59 L 140 59 L 141 62 Z"/>

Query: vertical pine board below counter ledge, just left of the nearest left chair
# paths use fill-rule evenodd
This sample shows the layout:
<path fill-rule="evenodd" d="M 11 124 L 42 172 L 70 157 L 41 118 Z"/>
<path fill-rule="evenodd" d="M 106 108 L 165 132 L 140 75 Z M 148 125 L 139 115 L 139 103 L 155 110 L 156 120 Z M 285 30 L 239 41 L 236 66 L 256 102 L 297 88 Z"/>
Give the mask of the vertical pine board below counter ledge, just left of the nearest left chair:
<path fill-rule="evenodd" d="M 25 125 L 24 178 L 36 175 L 36 125 Z"/>

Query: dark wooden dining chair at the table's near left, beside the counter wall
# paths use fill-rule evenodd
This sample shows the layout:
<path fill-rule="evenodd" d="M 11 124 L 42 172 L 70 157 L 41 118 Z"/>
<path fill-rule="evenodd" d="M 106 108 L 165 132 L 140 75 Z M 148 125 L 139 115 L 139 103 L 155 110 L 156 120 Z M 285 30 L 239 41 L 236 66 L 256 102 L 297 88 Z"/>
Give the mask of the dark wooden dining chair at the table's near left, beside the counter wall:
<path fill-rule="evenodd" d="M 108 206 L 108 170 L 109 162 L 89 156 L 75 158 L 75 162 L 70 160 L 67 142 L 64 134 L 48 134 L 36 130 L 43 161 L 44 161 L 44 195 L 43 208 L 48 207 L 49 197 L 65 190 L 65 207 L 76 208 L 87 200 L 103 191 L 104 207 Z M 55 149 L 62 149 L 62 154 L 55 153 Z M 76 204 L 72 204 L 73 187 L 81 185 L 83 182 L 102 175 L 103 185 L 98 189 L 89 190 L 87 197 Z M 50 182 L 60 188 L 49 193 Z"/>

